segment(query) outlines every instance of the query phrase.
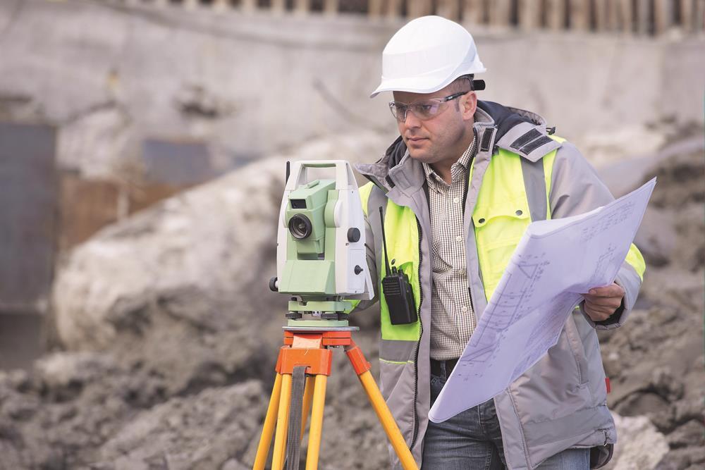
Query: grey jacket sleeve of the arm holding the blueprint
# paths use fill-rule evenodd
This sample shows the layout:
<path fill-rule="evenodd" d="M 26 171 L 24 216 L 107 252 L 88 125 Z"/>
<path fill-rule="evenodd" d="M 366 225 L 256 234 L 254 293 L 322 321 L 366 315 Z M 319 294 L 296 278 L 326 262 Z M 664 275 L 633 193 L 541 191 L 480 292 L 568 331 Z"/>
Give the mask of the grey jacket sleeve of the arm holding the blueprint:
<path fill-rule="evenodd" d="M 614 200 L 611 192 L 600 180 L 595 169 L 569 142 L 564 142 L 556 153 L 551 174 L 551 194 L 549 204 L 551 217 L 562 218 L 583 214 Z M 626 261 L 622 264 L 615 282 L 625 290 L 622 306 L 605 321 L 594 322 L 582 309 L 585 319 L 601 330 L 622 326 L 637 300 L 642 280 L 639 274 Z M 594 286 L 601 287 L 601 286 Z"/>

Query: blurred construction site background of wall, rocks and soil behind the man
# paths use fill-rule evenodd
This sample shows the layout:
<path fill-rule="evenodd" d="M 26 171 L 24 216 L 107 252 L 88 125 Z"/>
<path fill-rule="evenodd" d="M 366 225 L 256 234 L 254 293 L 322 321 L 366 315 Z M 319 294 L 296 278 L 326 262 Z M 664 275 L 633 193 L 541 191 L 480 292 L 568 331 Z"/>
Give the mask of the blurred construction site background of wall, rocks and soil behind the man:
<path fill-rule="evenodd" d="M 479 99 L 616 197 L 658 177 L 637 308 L 600 333 L 611 467 L 705 466 L 705 0 L 0 0 L 0 469 L 251 468 L 284 163 L 381 156 L 381 51 L 430 13 L 474 35 Z M 386 468 L 336 356 L 320 467 Z"/>

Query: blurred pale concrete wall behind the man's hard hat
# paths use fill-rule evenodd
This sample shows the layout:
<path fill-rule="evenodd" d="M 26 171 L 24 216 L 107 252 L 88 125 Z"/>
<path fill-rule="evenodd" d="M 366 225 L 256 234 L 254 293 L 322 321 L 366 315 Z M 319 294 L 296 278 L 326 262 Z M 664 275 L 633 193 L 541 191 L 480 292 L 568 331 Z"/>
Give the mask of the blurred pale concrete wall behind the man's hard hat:
<path fill-rule="evenodd" d="M 145 137 L 206 140 L 222 168 L 331 132 L 391 138 L 388 97 L 367 95 L 402 24 L 4 0 L 0 116 L 59 125 L 59 162 L 89 176 L 114 173 Z M 572 140 L 703 120 L 702 37 L 473 32 L 489 70 L 480 98 L 537 111 Z"/>

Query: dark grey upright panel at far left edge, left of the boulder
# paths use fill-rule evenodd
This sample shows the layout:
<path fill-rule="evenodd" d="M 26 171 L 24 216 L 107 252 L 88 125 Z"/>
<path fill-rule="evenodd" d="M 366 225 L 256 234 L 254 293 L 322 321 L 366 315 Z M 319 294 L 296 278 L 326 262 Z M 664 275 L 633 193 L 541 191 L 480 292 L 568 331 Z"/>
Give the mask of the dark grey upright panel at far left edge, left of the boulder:
<path fill-rule="evenodd" d="M 46 304 L 54 273 L 59 178 L 56 130 L 0 123 L 0 309 Z"/>

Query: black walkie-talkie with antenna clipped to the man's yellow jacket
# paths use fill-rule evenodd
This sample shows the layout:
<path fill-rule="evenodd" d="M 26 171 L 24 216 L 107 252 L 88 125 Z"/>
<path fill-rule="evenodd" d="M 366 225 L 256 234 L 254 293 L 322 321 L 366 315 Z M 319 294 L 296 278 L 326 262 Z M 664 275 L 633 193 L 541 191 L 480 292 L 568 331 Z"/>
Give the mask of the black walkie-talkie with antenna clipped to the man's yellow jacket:
<path fill-rule="evenodd" d="M 379 208 L 379 220 L 382 224 L 382 246 L 384 247 L 384 261 L 386 263 L 386 276 L 382 279 L 382 292 L 384 300 L 387 302 L 389 310 L 389 321 L 392 325 L 407 325 L 416 323 L 416 302 L 414 302 L 414 291 L 409 283 L 409 277 L 396 266 L 389 268 L 389 256 L 387 254 L 387 240 L 384 235 L 384 216 L 382 208 Z M 392 261 L 393 263 L 394 261 Z"/>

